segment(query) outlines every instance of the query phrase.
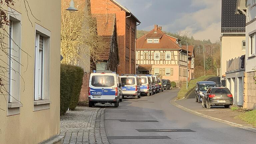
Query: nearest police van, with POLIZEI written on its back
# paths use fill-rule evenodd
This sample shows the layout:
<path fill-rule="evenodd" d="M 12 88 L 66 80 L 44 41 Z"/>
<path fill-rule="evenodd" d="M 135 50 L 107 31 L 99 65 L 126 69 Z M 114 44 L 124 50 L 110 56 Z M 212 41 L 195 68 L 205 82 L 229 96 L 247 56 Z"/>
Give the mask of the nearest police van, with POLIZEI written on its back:
<path fill-rule="evenodd" d="M 110 103 L 118 107 L 120 98 L 122 98 L 119 91 L 121 87 L 115 72 L 93 71 L 89 81 L 89 107 L 96 103 Z"/>

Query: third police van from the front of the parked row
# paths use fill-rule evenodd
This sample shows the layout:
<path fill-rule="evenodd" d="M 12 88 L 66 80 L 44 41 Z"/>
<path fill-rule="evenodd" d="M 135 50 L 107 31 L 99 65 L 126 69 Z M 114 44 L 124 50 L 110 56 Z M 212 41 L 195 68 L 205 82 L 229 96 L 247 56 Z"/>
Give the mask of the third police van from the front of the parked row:
<path fill-rule="evenodd" d="M 150 96 L 152 94 L 152 85 L 149 76 L 146 75 L 138 75 L 140 80 L 140 92 L 141 94 L 146 94 Z"/>

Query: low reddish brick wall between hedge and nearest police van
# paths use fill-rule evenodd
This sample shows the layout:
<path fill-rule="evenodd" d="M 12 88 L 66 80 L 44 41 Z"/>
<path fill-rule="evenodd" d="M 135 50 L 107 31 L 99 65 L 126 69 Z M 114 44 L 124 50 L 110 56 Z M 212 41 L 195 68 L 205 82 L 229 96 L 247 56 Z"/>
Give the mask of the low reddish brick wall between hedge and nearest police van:
<path fill-rule="evenodd" d="M 90 73 L 85 72 L 83 77 L 83 85 L 80 92 L 79 101 L 88 100 L 88 88 L 89 88 Z"/>

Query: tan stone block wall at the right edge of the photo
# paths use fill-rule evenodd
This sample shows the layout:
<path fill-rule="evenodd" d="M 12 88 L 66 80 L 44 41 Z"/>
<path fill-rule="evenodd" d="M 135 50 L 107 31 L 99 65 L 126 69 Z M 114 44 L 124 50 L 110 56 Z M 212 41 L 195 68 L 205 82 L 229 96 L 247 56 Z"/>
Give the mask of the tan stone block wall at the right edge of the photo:
<path fill-rule="evenodd" d="M 253 77 L 256 72 L 244 73 L 244 108 L 256 109 L 256 84 Z"/>

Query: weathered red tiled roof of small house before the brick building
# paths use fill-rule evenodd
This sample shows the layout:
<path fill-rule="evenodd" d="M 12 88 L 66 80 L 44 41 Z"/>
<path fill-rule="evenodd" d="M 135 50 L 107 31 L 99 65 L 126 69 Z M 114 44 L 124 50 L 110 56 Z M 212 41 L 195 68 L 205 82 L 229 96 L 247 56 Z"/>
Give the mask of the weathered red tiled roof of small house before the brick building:
<path fill-rule="evenodd" d="M 108 15 L 108 17 L 107 17 Z M 112 37 L 116 23 L 115 14 L 92 14 L 96 18 L 98 36 L 104 42 L 104 50 L 99 54 L 99 58 L 103 61 L 109 59 Z"/>

